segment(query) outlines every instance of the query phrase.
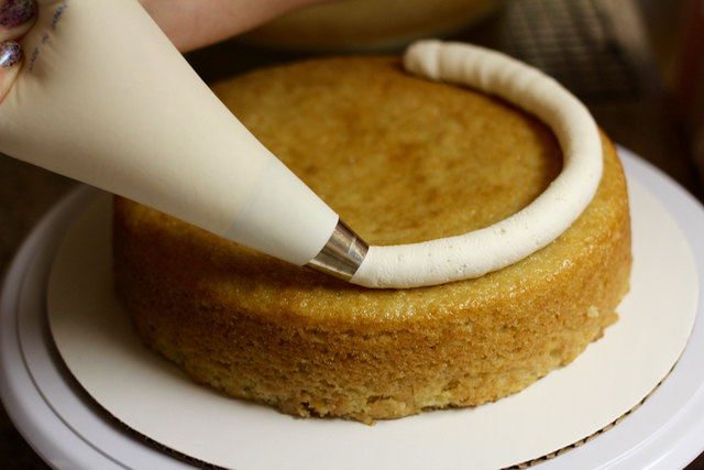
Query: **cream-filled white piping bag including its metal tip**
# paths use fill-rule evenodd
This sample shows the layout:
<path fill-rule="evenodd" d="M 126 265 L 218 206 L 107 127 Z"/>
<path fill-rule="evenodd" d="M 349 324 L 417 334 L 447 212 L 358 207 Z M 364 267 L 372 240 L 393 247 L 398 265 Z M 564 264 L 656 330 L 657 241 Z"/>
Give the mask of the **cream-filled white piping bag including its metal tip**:
<path fill-rule="evenodd" d="M 220 102 L 136 0 L 38 0 L 0 152 L 349 281 L 366 244 Z"/>

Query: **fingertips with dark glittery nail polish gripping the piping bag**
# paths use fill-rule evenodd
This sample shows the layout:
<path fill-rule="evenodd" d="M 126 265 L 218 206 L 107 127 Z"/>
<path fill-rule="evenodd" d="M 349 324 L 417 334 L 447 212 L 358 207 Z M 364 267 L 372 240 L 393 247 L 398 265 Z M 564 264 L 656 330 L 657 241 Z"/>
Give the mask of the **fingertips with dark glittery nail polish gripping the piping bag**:
<path fill-rule="evenodd" d="M 36 21 L 32 0 L 0 0 L 0 102 L 22 68 L 22 47 L 18 43 Z"/>

